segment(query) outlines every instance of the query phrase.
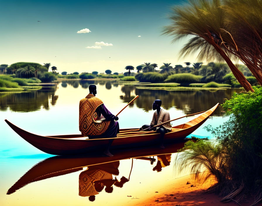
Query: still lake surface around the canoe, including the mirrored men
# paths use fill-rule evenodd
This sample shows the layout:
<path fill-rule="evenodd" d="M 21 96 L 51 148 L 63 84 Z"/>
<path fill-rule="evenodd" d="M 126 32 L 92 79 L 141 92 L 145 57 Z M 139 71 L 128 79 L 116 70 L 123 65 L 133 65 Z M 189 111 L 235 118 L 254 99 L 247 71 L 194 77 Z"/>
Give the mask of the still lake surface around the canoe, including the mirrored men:
<path fill-rule="evenodd" d="M 171 119 L 175 119 L 210 109 L 216 103 L 223 103 L 223 99 L 230 99 L 235 92 L 241 91 L 147 90 L 121 85 L 116 81 L 70 80 L 60 81 L 53 90 L 0 93 L 0 205 L 132 205 L 158 191 L 158 188 L 169 180 L 187 174 L 178 175 L 175 172 L 174 149 L 166 150 L 170 154 L 152 156 L 151 159 L 123 159 L 107 164 L 96 162 L 98 165 L 95 166 L 89 166 L 90 158 L 82 159 L 77 166 L 76 160 L 71 159 L 68 160 L 68 168 L 61 172 L 61 159 L 36 149 L 4 122 L 4 119 L 8 119 L 16 126 L 39 135 L 79 134 L 79 101 L 89 93 L 89 84 L 96 84 L 96 96 L 113 114 L 118 113 L 131 99 L 139 95 L 139 98 L 119 115 L 120 128 L 138 128 L 150 124 L 154 113 L 151 108 L 155 99 L 161 99 L 162 107 L 170 112 Z M 222 117 L 221 110 L 219 107 L 214 116 L 189 137 L 213 139 L 204 126 L 210 124 L 216 127 L 225 122 L 227 118 Z M 194 117 L 174 121 L 172 125 L 191 119 Z M 37 177 L 35 180 L 30 179 L 33 178 L 30 171 L 29 175 L 26 174 L 32 167 L 31 171 L 45 170 L 45 164 L 60 173 L 54 174 L 52 178 Z M 73 169 L 75 167 L 78 169 Z M 18 188 L 21 186 L 14 187 L 14 190 L 9 190 L 11 194 L 7 195 L 8 189 L 24 174 L 23 178 L 27 181 L 21 185 L 30 181 L 32 183 L 20 189 Z M 95 200 L 92 195 L 95 195 Z M 93 202 L 89 201 L 89 196 Z"/>

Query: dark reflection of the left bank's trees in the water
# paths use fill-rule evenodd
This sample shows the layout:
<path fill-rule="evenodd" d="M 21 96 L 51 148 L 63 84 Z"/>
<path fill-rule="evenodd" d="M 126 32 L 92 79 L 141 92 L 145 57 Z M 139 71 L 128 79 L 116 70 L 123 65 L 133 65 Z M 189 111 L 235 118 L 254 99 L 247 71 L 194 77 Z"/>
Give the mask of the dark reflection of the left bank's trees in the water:
<path fill-rule="evenodd" d="M 54 106 L 57 99 L 58 95 L 55 95 L 53 90 L 0 93 L 0 111 L 10 109 L 16 112 L 30 112 L 41 108 L 49 110 L 49 104 Z"/>

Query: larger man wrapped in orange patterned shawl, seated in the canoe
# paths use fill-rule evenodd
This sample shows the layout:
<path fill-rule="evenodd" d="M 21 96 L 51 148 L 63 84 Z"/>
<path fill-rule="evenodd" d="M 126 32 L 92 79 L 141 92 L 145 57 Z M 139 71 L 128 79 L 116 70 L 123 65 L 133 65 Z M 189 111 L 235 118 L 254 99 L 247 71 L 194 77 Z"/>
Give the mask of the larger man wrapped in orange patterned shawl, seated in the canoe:
<path fill-rule="evenodd" d="M 96 85 L 89 85 L 89 94 L 79 103 L 79 131 L 89 139 L 114 138 L 119 133 L 118 117 L 106 109 L 103 102 L 95 97 Z M 116 121 L 115 121 L 116 120 Z M 109 144 L 104 154 L 113 156 L 109 152 Z"/>

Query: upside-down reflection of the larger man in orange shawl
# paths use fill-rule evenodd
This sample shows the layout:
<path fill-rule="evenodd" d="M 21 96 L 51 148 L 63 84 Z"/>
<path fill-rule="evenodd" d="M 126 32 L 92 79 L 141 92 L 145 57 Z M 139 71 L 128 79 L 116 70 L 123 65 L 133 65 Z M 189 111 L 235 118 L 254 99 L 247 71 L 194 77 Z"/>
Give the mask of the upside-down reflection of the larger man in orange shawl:
<path fill-rule="evenodd" d="M 89 201 L 95 200 L 95 195 L 99 194 L 104 188 L 105 192 L 112 193 L 113 185 L 123 187 L 123 184 L 129 180 L 124 176 L 120 181 L 113 175 L 119 175 L 119 161 L 100 165 L 89 166 L 85 171 L 79 174 L 79 195 L 88 197 Z"/>

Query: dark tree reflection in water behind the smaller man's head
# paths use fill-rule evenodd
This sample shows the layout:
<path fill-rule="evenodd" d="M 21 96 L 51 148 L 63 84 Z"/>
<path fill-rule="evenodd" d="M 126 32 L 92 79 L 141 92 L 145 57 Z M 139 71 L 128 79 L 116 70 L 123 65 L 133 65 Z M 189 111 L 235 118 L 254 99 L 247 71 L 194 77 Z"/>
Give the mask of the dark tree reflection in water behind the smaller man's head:
<path fill-rule="evenodd" d="M 135 86 L 125 85 L 121 88 L 121 91 L 125 95 L 121 95 L 120 99 L 123 102 L 130 102 L 135 95 L 139 95 L 139 98 L 134 101 L 134 104 L 138 108 L 144 111 L 150 111 L 152 109 L 152 103 L 155 99 L 162 100 L 162 106 L 165 109 L 175 107 L 182 110 L 185 114 L 192 114 L 200 111 L 206 111 L 215 104 L 223 103 L 224 99 L 230 99 L 236 92 L 235 89 L 227 90 L 149 90 L 149 89 L 137 89 Z M 134 93 L 135 95 L 131 95 Z M 214 111 L 214 115 L 221 115 L 222 108 L 218 107 Z"/>

